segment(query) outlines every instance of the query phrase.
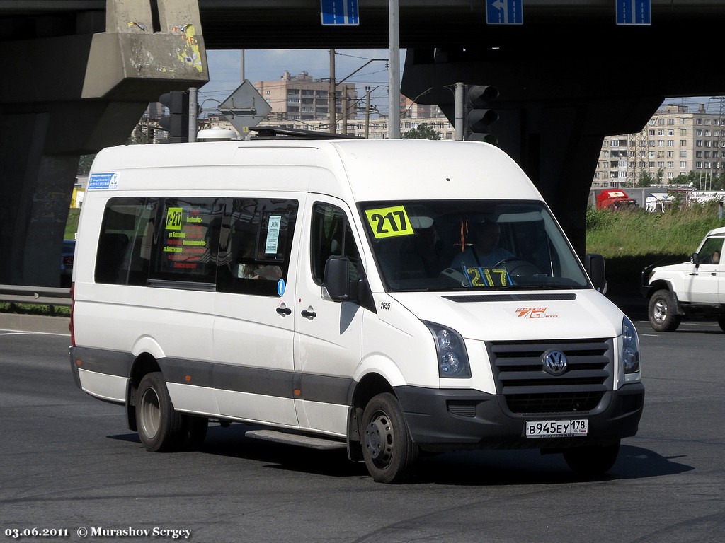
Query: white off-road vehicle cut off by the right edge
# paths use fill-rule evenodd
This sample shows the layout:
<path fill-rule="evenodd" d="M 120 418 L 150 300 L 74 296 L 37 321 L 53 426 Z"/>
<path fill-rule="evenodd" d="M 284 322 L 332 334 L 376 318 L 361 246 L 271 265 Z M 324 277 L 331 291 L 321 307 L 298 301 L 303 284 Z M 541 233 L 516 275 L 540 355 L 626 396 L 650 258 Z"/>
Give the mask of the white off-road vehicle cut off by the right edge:
<path fill-rule="evenodd" d="M 649 266 L 642 271 L 647 315 L 658 332 L 673 332 L 682 319 L 716 319 L 725 331 L 725 264 L 721 261 L 725 227 L 705 235 L 687 262 Z"/>

